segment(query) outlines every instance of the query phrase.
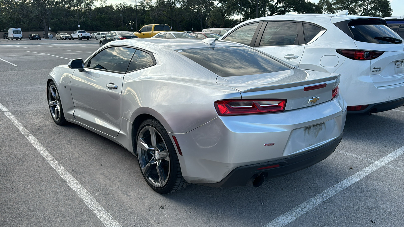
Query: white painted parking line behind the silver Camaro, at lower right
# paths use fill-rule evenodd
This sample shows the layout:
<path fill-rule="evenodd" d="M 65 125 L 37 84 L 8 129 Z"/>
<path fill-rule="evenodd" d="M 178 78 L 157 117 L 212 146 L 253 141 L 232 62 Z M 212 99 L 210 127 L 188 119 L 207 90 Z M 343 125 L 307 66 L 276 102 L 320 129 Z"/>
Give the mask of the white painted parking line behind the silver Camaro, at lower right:
<path fill-rule="evenodd" d="M 394 160 L 398 156 L 404 153 L 404 146 L 400 147 L 399 149 L 389 153 L 388 155 L 384 156 L 383 158 L 379 159 L 378 161 L 372 163 L 370 166 L 360 170 L 356 174 L 353 174 L 351 177 L 337 183 L 336 185 L 326 189 L 322 193 L 314 196 L 313 198 L 306 200 L 305 202 L 301 203 L 299 206 L 289 210 L 288 212 L 282 214 L 281 216 L 277 217 L 276 219 L 272 220 L 270 223 L 264 225 L 264 227 L 283 227 L 293 220 L 297 219 L 298 217 L 305 214 L 307 211 L 311 210 L 312 208 L 316 207 L 318 204 L 328 200 L 333 195 L 339 193 L 343 189 L 349 187 L 353 183 L 356 183 L 360 179 L 366 177 L 371 172 L 377 170 L 378 168 L 384 166 L 385 164 L 389 163 L 391 160 Z"/>

